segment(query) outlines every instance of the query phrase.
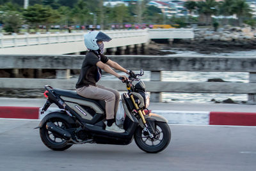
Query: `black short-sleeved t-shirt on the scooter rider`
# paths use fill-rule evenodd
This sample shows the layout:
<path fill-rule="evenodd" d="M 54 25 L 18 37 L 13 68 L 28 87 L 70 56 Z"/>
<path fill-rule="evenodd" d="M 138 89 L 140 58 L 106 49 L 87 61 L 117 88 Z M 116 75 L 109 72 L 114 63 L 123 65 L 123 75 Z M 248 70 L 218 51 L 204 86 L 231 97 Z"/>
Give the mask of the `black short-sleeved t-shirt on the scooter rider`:
<path fill-rule="evenodd" d="M 76 84 L 76 89 L 84 86 L 87 87 L 88 85 L 96 86 L 98 72 L 96 64 L 99 61 L 102 61 L 102 63 L 107 63 L 108 60 L 108 57 L 104 55 L 100 55 L 99 59 L 99 57 L 96 56 L 96 54 L 94 54 L 93 52 L 88 52 L 84 58 L 81 67 L 80 75 Z"/>

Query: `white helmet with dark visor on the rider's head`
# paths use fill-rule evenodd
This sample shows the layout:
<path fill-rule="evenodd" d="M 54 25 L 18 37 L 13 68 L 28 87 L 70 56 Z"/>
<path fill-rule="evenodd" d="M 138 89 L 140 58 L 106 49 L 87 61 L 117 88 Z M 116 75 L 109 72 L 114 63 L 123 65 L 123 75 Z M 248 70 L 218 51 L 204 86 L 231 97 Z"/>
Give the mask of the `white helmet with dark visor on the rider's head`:
<path fill-rule="evenodd" d="M 89 33 L 84 34 L 84 45 L 90 50 L 99 50 L 98 41 L 110 40 L 112 39 L 101 31 L 90 31 Z"/>

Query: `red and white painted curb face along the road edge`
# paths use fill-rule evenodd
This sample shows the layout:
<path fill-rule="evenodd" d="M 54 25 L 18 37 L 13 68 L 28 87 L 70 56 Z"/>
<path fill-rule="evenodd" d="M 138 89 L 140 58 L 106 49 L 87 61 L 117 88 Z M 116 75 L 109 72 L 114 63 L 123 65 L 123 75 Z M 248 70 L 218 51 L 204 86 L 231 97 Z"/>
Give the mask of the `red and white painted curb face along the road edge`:
<path fill-rule="evenodd" d="M 60 110 L 49 108 L 43 115 L 39 107 L 0 107 L 0 118 L 43 119 L 50 112 Z M 256 112 L 202 112 L 179 110 L 152 110 L 163 115 L 170 124 L 235 125 L 256 126 Z"/>

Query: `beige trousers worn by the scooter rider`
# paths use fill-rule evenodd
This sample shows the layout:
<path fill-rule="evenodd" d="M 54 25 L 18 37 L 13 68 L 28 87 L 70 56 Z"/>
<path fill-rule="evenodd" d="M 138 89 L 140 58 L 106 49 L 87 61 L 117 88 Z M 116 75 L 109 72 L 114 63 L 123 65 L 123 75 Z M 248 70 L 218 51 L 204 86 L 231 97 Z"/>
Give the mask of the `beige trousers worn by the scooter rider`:
<path fill-rule="evenodd" d="M 88 87 L 81 87 L 76 89 L 77 94 L 83 96 L 84 98 L 91 98 L 95 100 L 105 100 L 106 101 L 106 119 L 114 119 L 118 103 L 120 99 L 120 94 L 115 89 L 110 89 L 102 85 L 89 85 Z"/>

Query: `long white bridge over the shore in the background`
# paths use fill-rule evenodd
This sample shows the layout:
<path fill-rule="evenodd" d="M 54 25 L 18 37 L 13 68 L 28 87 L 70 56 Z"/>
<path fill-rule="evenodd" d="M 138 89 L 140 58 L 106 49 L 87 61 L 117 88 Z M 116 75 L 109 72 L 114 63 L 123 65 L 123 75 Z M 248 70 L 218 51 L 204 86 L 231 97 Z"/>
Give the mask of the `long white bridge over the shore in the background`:
<path fill-rule="evenodd" d="M 113 40 L 105 43 L 109 54 L 115 55 L 116 50 L 124 54 L 124 50 L 147 48 L 154 39 L 193 39 L 193 29 L 138 29 L 138 30 L 105 30 Z M 80 54 L 84 47 L 84 31 L 77 33 L 47 33 L 1 36 L 0 54 L 38 54 L 61 55 Z"/>

